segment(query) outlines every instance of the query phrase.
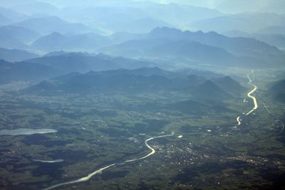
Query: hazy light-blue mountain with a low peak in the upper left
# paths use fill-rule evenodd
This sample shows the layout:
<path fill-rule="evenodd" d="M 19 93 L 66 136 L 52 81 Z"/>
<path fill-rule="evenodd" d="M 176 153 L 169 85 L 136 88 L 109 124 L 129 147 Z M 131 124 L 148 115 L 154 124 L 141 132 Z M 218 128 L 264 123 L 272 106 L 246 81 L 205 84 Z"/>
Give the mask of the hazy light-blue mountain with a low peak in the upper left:
<path fill-rule="evenodd" d="M 53 32 L 38 38 L 31 44 L 31 47 L 42 51 L 94 51 L 108 44 L 110 44 L 108 38 L 95 33 L 62 35 Z"/>

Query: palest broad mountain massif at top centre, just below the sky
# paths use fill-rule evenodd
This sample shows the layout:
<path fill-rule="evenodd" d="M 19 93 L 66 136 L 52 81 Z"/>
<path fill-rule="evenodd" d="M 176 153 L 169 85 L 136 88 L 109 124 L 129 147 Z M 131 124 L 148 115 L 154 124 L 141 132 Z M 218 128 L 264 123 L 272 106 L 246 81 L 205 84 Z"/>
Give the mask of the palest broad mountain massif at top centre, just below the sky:
<path fill-rule="evenodd" d="M 76 9 L 73 6 L 67 6 L 60 16 L 93 28 L 102 28 L 108 33 L 143 33 L 157 26 L 185 28 L 185 23 L 190 21 L 223 15 L 214 9 L 150 1 L 128 1 L 125 4 L 118 1 L 115 5 L 105 6 L 98 5 L 101 3 L 96 1 L 93 4 L 96 6 L 79 6 Z"/>

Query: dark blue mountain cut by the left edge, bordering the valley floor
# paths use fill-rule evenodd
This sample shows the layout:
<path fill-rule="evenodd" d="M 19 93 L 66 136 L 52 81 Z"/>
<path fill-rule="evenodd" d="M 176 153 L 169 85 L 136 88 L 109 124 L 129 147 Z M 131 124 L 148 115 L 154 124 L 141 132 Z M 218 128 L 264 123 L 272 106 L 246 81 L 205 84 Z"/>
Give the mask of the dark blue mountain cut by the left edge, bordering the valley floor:
<path fill-rule="evenodd" d="M 61 72 L 46 65 L 35 63 L 10 63 L 0 60 L 0 84 L 11 81 L 39 81 L 53 78 Z"/>

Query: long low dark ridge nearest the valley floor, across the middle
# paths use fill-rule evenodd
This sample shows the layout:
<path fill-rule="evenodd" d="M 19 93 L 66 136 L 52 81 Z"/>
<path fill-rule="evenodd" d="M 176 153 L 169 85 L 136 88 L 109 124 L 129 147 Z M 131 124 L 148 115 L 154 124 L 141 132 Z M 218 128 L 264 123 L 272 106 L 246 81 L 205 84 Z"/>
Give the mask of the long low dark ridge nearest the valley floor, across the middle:
<path fill-rule="evenodd" d="M 222 84 L 230 84 L 233 80 L 228 77 L 218 81 L 224 81 Z M 228 85 L 223 85 L 223 88 L 220 88 L 210 80 L 204 80 L 201 84 L 199 78 L 178 75 L 160 68 L 138 68 L 135 70 L 90 71 L 84 74 L 69 73 L 38 83 L 28 88 L 27 92 L 86 94 L 113 91 L 141 93 L 143 91 L 186 90 L 197 99 L 225 100 L 233 97 L 226 90 L 232 92 L 232 88 L 235 86 L 240 88 L 237 81 L 234 81 L 234 86 L 230 88 Z"/>

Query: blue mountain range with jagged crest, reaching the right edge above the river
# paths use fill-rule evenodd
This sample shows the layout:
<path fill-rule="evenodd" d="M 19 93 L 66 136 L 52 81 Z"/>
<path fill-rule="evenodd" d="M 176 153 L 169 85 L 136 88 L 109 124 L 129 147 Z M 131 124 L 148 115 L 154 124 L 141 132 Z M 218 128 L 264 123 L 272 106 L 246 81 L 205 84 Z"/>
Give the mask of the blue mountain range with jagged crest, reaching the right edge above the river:
<path fill-rule="evenodd" d="M 100 48 L 98 51 L 133 58 L 173 58 L 195 64 L 270 67 L 283 64 L 284 53 L 253 38 L 229 38 L 215 32 L 155 28 L 139 39 Z"/>

